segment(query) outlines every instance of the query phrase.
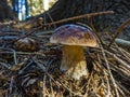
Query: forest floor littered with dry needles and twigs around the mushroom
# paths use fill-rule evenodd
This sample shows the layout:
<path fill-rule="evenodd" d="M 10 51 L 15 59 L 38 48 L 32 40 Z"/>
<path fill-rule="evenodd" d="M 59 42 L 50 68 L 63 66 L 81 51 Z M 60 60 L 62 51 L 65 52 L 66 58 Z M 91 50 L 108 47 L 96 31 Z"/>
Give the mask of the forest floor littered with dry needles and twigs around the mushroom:
<path fill-rule="evenodd" d="M 89 77 L 75 81 L 60 70 L 62 45 L 50 43 L 54 29 L 39 20 L 25 24 L 0 24 L 0 97 L 130 96 L 129 41 L 116 42 L 123 25 L 115 34 L 94 33 L 100 47 L 84 47 Z"/>

